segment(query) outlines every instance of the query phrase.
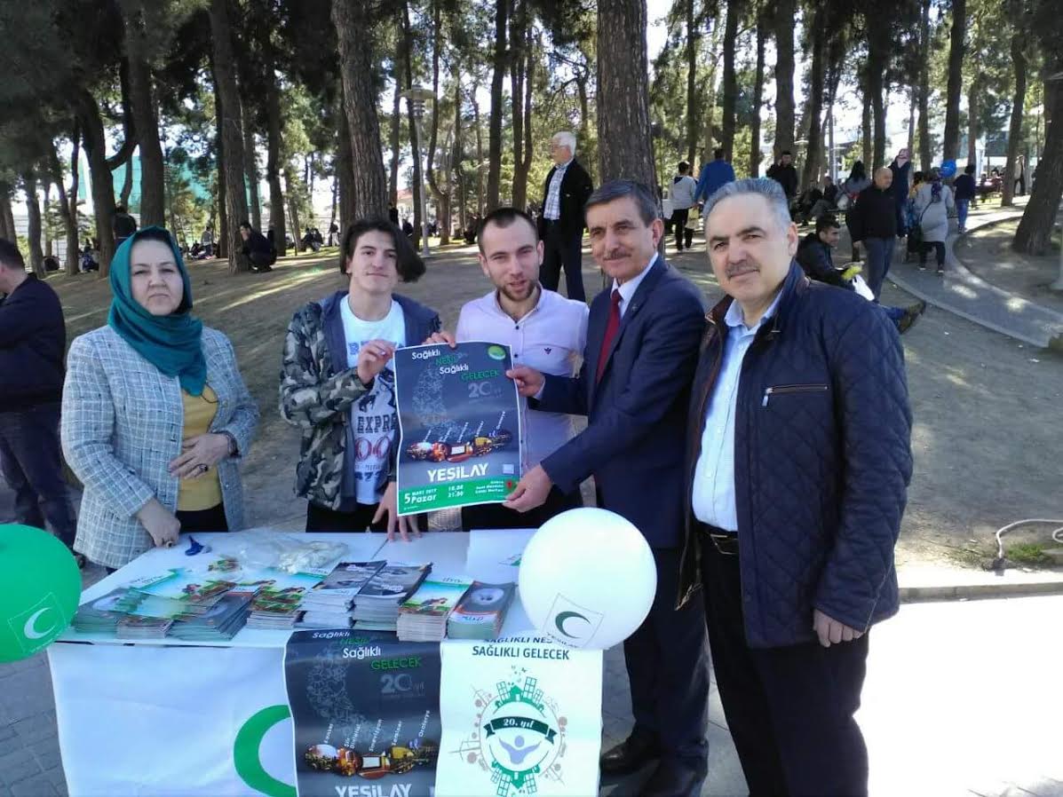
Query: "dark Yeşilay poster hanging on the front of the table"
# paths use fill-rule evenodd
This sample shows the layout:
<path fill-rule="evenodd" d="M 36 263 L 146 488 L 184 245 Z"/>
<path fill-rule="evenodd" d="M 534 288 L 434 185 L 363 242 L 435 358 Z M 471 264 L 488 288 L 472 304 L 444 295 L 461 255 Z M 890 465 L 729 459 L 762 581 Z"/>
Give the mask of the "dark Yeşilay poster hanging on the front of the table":
<path fill-rule="evenodd" d="M 439 643 L 297 631 L 284 660 L 299 797 L 428 797 L 439 757 Z"/>

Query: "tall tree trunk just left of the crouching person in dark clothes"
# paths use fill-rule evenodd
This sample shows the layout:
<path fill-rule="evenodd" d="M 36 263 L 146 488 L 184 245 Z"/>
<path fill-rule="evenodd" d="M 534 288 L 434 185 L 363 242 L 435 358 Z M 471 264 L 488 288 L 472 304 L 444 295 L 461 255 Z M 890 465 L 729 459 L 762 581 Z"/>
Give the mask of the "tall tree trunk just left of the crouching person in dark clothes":
<path fill-rule="evenodd" d="M 248 197 L 243 184 L 243 122 L 240 119 L 240 92 L 236 86 L 233 45 L 230 40 L 227 0 L 210 0 L 210 38 L 214 40 L 214 72 L 221 108 L 218 125 L 225 151 L 225 215 L 229 218 L 229 273 L 250 271 L 251 261 L 242 253 L 239 224 L 248 219 Z"/>

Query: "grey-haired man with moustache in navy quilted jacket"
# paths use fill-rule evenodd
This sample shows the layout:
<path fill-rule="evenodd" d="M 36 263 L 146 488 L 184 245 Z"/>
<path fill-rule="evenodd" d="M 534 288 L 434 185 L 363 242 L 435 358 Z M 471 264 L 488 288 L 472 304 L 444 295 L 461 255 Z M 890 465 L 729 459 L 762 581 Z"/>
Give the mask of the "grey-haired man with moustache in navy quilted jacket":
<path fill-rule="evenodd" d="M 728 295 L 709 313 L 691 393 L 678 603 L 705 601 L 750 794 L 866 794 L 853 715 L 870 629 L 898 604 L 904 353 L 883 312 L 794 262 L 776 183 L 725 186 L 705 219 Z"/>

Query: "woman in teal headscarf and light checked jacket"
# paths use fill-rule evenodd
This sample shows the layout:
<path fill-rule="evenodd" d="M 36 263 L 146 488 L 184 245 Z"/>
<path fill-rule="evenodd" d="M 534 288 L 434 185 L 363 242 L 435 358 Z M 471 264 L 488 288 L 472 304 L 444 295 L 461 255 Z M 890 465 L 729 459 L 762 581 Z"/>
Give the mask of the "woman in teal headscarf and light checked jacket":
<path fill-rule="evenodd" d="M 169 233 L 125 240 L 111 290 L 106 326 L 70 345 L 62 437 L 85 486 L 74 550 L 117 569 L 179 531 L 242 528 L 238 464 L 258 408 L 229 339 L 191 315 Z"/>

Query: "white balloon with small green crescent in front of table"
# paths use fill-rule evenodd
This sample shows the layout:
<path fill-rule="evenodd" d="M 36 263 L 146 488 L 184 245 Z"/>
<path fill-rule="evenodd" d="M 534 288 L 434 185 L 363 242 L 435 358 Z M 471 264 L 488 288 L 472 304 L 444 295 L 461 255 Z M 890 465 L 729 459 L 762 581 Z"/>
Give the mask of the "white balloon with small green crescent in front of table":
<path fill-rule="evenodd" d="M 569 647 L 604 649 L 642 625 L 657 593 L 645 538 L 605 509 L 571 509 L 536 531 L 521 557 L 521 603 L 533 626 Z"/>

